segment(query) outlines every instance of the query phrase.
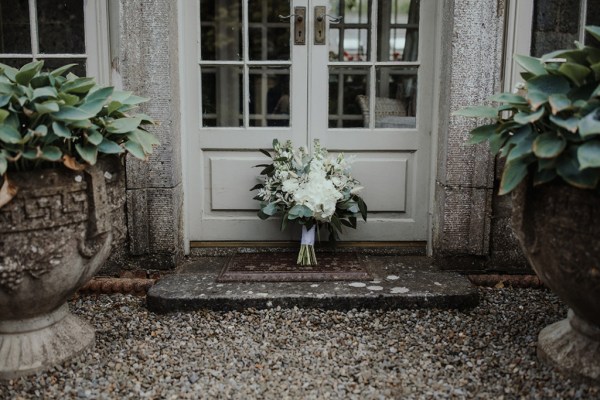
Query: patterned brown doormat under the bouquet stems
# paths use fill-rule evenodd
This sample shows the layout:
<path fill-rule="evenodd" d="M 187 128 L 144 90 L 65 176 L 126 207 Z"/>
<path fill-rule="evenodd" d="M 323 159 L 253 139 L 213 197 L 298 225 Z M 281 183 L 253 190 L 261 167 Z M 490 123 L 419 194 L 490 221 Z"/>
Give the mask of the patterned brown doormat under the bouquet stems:
<path fill-rule="evenodd" d="M 238 253 L 217 282 L 309 282 L 370 280 L 356 253 L 317 254 L 318 265 L 297 265 L 297 253 Z"/>

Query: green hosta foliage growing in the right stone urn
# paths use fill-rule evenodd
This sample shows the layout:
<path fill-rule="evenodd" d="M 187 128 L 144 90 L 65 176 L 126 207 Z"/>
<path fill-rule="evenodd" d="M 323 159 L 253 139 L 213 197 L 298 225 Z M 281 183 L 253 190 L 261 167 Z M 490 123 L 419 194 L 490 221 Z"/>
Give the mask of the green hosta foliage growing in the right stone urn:
<path fill-rule="evenodd" d="M 600 41 L 600 27 L 587 32 Z M 598 43 L 598 42 L 597 42 Z M 582 189 L 600 182 L 600 47 L 577 43 L 541 58 L 515 56 L 523 67 L 517 93 L 490 98 L 498 106 L 467 107 L 456 115 L 493 120 L 471 131 L 506 158 L 500 194 L 531 173 L 533 184 L 562 179 Z"/>

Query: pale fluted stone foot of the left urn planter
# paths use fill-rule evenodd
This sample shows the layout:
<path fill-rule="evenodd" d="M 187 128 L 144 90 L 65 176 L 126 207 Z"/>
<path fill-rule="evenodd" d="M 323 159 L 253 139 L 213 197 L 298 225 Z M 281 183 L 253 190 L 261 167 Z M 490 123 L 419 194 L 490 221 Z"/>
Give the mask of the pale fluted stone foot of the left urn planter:
<path fill-rule="evenodd" d="M 93 345 L 94 329 L 64 304 L 40 317 L 0 322 L 0 379 L 47 369 Z"/>

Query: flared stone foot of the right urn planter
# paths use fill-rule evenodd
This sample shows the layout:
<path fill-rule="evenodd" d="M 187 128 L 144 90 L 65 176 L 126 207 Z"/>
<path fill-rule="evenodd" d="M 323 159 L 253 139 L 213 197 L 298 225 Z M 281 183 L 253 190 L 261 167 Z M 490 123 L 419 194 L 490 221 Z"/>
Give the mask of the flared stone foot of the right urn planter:
<path fill-rule="evenodd" d="M 573 377 L 600 382 L 600 327 L 569 317 L 542 329 L 538 358 Z"/>

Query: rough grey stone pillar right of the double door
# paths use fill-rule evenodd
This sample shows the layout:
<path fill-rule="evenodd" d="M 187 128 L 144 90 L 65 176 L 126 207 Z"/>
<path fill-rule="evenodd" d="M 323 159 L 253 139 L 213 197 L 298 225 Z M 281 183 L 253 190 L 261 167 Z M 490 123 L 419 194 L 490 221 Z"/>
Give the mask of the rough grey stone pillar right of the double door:
<path fill-rule="evenodd" d="M 466 146 L 477 122 L 452 112 L 500 89 L 505 4 L 455 0 L 443 8 L 433 252 L 442 268 L 477 269 L 490 252 L 494 158 L 486 146 Z"/>

